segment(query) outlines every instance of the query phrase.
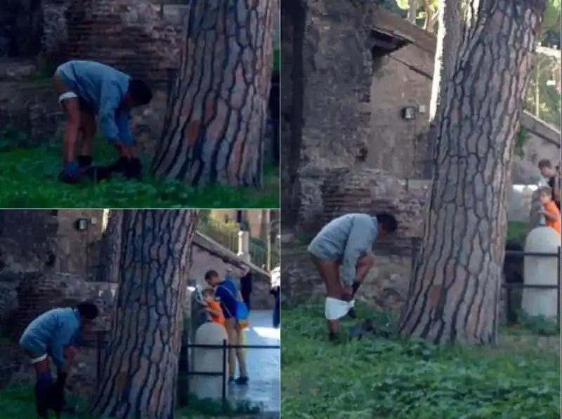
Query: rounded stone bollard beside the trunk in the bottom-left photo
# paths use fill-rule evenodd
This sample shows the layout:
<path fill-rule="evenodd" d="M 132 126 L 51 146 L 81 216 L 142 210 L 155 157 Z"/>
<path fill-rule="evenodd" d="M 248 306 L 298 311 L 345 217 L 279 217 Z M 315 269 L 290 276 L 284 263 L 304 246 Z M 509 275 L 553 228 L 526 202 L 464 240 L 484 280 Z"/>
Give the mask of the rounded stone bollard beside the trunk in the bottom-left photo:
<path fill-rule="evenodd" d="M 197 399 L 221 399 L 226 386 L 223 373 L 223 341 L 227 340 L 226 330 L 217 323 L 205 323 L 195 332 L 195 345 L 220 345 L 220 348 L 194 347 L 191 371 L 196 373 L 217 373 L 217 375 L 192 375 L 192 394 Z M 220 373 L 221 375 L 218 375 Z"/>

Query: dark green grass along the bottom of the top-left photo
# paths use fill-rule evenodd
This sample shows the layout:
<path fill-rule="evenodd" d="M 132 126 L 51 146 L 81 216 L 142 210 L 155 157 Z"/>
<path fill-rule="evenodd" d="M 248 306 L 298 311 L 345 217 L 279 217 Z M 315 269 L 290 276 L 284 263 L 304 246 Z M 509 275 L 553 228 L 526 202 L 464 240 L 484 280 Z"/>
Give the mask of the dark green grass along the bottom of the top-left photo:
<path fill-rule="evenodd" d="M 96 140 L 94 158 L 96 164 L 110 164 L 117 155 L 110 145 Z M 149 168 L 150 161 L 145 161 L 145 172 Z M 114 177 L 97 184 L 84 180 L 66 185 L 57 179 L 60 170 L 60 142 L 1 152 L 0 207 L 279 208 L 279 173 L 273 167 L 266 169 L 260 190 L 222 185 L 196 189 L 147 174 L 142 182 Z"/>

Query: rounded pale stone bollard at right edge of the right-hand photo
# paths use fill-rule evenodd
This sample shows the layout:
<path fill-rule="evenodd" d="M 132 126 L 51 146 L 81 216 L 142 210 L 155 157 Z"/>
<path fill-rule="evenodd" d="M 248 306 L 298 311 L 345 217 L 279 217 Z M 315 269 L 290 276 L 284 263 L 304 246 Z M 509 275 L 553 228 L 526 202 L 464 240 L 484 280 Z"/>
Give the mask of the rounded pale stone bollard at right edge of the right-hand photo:
<path fill-rule="evenodd" d="M 558 253 L 560 236 L 550 227 L 536 227 L 525 240 L 525 253 Z M 554 256 L 525 256 L 523 265 L 525 285 L 558 284 L 558 260 Z M 530 316 L 556 319 L 558 315 L 558 291 L 556 288 L 523 288 L 523 311 Z"/>

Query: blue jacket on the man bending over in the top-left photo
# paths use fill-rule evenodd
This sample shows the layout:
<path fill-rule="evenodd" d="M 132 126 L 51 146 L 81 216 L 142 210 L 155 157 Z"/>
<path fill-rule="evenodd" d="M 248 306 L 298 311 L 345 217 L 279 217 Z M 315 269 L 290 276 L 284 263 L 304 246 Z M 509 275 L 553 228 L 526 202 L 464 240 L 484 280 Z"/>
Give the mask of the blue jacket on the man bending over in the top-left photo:
<path fill-rule="evenodd" d="M 131 111 L 121 105 L 129 90 L 131 76 L 95 61 L 72 60 L 58 67 L 65 86 L 79 95 L 99 115 L 100 128 L 107 140 L 131 145 Z"/>

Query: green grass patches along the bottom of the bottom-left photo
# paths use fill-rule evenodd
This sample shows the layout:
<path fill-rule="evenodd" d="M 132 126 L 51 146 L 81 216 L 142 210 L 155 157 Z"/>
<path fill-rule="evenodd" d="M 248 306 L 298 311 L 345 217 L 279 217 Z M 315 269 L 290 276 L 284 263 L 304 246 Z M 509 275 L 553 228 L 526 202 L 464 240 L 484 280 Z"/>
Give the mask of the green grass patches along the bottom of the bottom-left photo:
<path fill-rule="evenodd" d="M 35 419 L 34 390 L 30 385 L 13 385 L 0 388 L 0 419 Z M 76 408 L 76 415 L 63 414 L 63 419 L 93 419 L 88 412 L 88 404 L 77 397 L 67 397 L 67 405 Z M 232 418 L 249 416 L 259 413 L 255 406 L 240 404 L 239 406 L 223 407 L 218 401 L 196 400 L 190 402 L 188 408 L 177 411 L 178 419 L 200 418 L 212 416 L 214 418 Z M 51 413 L 51 418 L 52 418 Z"/>

